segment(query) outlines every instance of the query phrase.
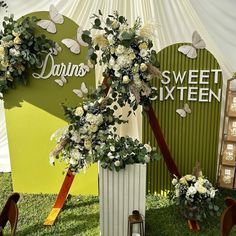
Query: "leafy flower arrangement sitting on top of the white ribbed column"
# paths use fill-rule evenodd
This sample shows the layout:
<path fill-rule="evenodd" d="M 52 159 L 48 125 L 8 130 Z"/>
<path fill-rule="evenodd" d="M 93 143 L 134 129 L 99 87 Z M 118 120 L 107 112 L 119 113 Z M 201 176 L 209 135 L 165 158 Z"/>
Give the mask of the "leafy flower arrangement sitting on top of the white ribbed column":
<path fill-rule="evenodd" d="M 126 165 L 146 164 L 159 159 L 160 155 L 155 147 L 142 144 L 137 139 L 117 135 L 109 136 L 95 153 L 95 160 L 100 161 L 101 167 L 112 171 L 125 169 Z"/>

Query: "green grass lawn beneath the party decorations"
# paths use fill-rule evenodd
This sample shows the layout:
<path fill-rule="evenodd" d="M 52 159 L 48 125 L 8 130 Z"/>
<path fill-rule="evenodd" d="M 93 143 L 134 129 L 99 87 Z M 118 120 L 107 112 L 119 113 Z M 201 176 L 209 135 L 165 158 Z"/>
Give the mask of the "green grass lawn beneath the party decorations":
<path fill-rule="evenodd" d="M 0 209 L 12 193 L 11 175 L 0 173 Z M 225 208 L 225 196 L 236 198 L 236 191 L 220 190 L 217 200 L 220 211 Z M 56 195 L 21 194 L 19 201 L 19 223 L 17 236 L 98 236 L 98 197 L 69 197 L 54 226 L 43 226 Z M 212 217 L 200 223 L 201 231 L 189 231 L 176 206 L 167 197 L 147 196 L 146 236 L 218 236 L 220 217 Z M 9 234 L 6 234 L 9 235 Z M 236 231 L 231 235 L 236 235 Z M 111 235 L 112 236 L 112 235 Z M 120 235 L 126 236 L 126 235 Z"/>

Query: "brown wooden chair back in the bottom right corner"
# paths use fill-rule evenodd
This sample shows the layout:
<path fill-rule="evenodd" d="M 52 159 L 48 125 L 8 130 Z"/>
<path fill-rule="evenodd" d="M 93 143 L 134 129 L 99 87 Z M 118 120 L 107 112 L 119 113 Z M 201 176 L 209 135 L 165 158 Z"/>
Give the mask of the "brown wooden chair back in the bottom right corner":
<path fill-rule="evenodd" d="M 223 211 L 220 222 L 221 236 L 230 235 L 231 229 L 236 225 L 236 200 L 227 197 L 225 203 L 227 208 Z"/>

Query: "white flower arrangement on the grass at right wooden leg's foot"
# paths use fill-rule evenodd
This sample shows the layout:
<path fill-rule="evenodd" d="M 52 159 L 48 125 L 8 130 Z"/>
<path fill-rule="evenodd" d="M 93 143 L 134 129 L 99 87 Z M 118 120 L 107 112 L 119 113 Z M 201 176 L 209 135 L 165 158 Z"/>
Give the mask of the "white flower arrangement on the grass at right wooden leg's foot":
<path fill-rule="evenodd" d="M 172 184 L 175 187 L 173 199 L 184 210 L 186 218 L 200 221 L 219 210 L 214 203 L 218 190 L 202 175 L 201 171 L 195 175 L 185 175 L 180 179 L 175 176 Z"/>

